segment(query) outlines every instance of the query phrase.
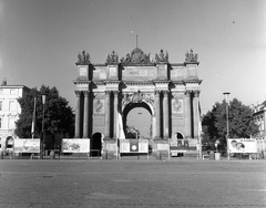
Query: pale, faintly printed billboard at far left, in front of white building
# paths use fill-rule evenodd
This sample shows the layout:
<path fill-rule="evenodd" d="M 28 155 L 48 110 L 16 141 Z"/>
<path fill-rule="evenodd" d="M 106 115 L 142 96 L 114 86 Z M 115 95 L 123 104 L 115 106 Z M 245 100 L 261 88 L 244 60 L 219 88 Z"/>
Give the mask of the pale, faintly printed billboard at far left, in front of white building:
<path fill-rule="evenodd" d="M 40 153 L 40 138 L 14 139 L 14 153 Z"/>

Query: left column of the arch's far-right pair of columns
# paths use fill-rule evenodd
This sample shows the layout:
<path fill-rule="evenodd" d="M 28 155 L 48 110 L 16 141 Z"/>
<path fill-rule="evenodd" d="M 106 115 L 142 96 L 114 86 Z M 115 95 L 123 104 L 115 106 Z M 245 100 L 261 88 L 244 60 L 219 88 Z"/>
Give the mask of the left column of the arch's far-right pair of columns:
<path fill-rule="evenodd" d="M 185 137 L 192 136 L 192 112 L 191 112 L 191 91 L 185 92 Z"/>

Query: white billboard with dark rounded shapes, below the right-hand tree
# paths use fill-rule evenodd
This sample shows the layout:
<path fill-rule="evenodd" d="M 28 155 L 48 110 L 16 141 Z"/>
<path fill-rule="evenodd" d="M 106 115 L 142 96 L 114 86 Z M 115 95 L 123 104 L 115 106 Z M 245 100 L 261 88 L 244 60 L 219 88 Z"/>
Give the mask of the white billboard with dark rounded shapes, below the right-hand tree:
<path fill-rule="evenodd" d="M 257 153 L 257 141 L 248 138 L 228 138 L 229 153 Z"/>

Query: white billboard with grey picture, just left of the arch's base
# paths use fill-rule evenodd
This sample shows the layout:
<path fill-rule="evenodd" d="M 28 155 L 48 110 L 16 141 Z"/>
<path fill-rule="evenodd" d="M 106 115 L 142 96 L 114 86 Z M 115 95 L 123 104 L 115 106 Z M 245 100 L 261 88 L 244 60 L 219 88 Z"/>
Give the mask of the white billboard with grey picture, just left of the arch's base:
<path fill-rule="evenodd" d="M 90 153 L 90 139 L 63 138 L 62 153 Z"/>

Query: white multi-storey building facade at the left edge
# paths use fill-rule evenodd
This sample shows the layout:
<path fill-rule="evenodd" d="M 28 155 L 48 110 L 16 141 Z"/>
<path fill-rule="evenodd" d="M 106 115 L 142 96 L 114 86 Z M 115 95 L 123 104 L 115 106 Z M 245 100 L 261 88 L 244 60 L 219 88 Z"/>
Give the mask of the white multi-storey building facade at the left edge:
<path fill-rule="evenodd" d="M 25 91 L 30 89 L 23 85 L 8 85 L 7 81 L 3 81 L 0 86 L 0 144 L 2 148 L 11 145 L 12 139 L 16 138 L 16 122 L 21 113 L 18 98 L 22 97 Z"/>

